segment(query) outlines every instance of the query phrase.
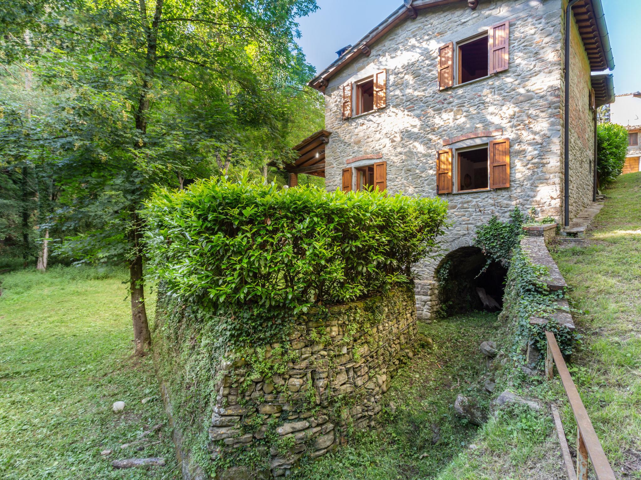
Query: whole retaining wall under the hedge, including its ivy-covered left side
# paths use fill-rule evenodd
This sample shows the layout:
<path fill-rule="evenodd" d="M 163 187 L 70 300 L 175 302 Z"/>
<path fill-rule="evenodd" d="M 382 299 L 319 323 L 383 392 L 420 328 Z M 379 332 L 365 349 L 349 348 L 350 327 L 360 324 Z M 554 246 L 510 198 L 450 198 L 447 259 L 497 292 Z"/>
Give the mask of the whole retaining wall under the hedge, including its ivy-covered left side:
<path fill-rule="evenodd" d="M 303 456 L 316 458 L 376 425 L 381 397 L 417 337 L 411 286 L 314 310 L 285 341 L 222 356 L 206 351 L 215 342 L 203 343 L 206 322 L 193 306 L 160 292 L 156 315 L 157 371 L 168 413 L 184 430 L 180 454 L 191 459 L 185 477 L 285 476 Z M 200 365 L 210 368 L 204 385 L 192 381 L 193 358 L 213 359 Z M 194 416 L 206 423 L 206 438 Z"/>

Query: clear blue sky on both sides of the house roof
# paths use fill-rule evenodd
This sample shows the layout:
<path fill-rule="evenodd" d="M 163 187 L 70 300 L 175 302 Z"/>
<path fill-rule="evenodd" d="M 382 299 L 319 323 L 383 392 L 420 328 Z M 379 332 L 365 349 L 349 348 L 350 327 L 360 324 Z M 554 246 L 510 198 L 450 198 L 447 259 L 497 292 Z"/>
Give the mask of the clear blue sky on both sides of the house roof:
<path fill-rule="evenodd" d="M 614 54 L 615 92 L 641 90 L 641 0 L 601 0 Z M 316 70 L 336 58 L 339 48 L 357 42 L 401 5 L 402 0 L 317 0 L 319 10 L 299 19 L 299 45 Z M 482 6 L 482 5 L 481 5 Z"/>

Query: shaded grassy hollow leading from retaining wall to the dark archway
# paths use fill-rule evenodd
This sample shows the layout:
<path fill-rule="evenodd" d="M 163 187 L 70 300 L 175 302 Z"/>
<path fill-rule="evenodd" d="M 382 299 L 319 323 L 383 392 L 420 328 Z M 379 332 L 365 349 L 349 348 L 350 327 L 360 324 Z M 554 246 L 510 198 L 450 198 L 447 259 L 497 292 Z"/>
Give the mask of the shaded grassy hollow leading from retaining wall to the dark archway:
<path fill-rule="evenodd" d="M 465 394 L 488 403 L 490 396 L 479 383 L 481 374 L 487 372 L 479 344 L 495 340 L 499 347 L 507 348 L 506 328 L 495 314 L 481 312 L 419 326 L 420 332 L 433 339 L 433 348 L 420 348 L 411 365 L 401 368 L 392 380 L 383 397 L 384 427 L 357 436 L 335 454 L 303 465 L 297 478 L 435 478 L 454 455 L 469 449 L 479 428 L 456 415 L 454 399 Z"/>

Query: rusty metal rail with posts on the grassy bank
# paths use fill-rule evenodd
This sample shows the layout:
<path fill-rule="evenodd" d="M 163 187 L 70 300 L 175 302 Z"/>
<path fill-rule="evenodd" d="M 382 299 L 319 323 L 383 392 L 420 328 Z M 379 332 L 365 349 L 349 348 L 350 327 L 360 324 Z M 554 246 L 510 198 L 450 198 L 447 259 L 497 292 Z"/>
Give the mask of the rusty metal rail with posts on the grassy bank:
<path fill-rule="evenodd" d="M 579 392 L 576 390 L 574 381 L 572 381 L 572 376 L 570 376 L 567 365 L 565 365 L 565 360 L 563 360 L 561 350 L 556 343 L 554 333 L 545 332 L 545 338 L 547 339 L 545 378 L 547 378 L 547 380 L 552 379 L 552 367 L 554 362 L 556 370 L 559 372 L 559 376 L 561 377 L 563 388 L 565 388 L 567 399 L 570 401 L 570 407 L 572 407 L 572 412 L 574 412 L 574 419 L 576 419 L 576 472 L 574 472 L 574 468 L 572 468 L 571 461 L 568 462 L 564 454 L 568 475 L 570 479 L 588 480 L 589 458 L 598 480 L 615 480 L 616 477 L 614 476 L 612 467 L 610 467 L 610 462 L 608 462 L 608 458 L 606 458 L 605 453 L 603 452 L 603 447 L 601 447 L 601 442 L 599 442 L 599 438 L 594 431 L 592 422 L 590 422 L 588 412 L 586 412 L 585 406 L 583 406 L 583 401 L 581 401 Z M 558 416 L 558 413 L 556 416 Z M 560 418 L 558 419 L 558 423 L 561 423 Z M 559 434 L 559 440 L 562 442 L 563 450 L 563 442 L 565 442 L 563 427 L 561 426 L 561 431 L 557 428 L 557 432 Z"/>

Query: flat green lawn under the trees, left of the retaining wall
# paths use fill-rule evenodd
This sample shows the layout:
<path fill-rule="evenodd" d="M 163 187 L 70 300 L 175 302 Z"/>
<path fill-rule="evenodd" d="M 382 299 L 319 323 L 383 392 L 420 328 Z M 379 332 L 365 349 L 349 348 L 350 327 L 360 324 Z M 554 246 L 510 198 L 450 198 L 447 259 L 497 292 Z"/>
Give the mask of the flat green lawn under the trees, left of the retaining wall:
<path fill-rule="evenodd" d="M 151 356 L 133 358 L 126 287 L 95 269 L 0 277 L 0 477 L 175 479 L 179 468 Z M 150 305 L 153 305 L 150 301 Z M 154 308 L 148 308 L 153 314 Z M 142 404 L 144 397 L 156 396 Z M 126 403 L 112 412 L 112 403 Z M 142 451 L 120 445 L 163 422 Z M 101 451 L 113 449 L 109 456 Z M 114 470 L 121 458 L 165 467 Z"/>

